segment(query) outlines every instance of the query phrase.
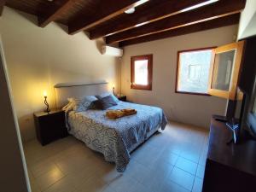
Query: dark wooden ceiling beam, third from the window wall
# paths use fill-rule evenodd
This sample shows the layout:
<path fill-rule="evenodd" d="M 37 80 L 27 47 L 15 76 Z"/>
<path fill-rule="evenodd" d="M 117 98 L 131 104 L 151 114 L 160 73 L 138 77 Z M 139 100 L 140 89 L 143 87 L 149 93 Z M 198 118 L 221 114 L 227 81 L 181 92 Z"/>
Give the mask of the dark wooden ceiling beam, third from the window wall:
<path fill-rule="evenodd" d="M 151 0 L 138 7 L 134 14 L 123 15 L 118 20 L 96 27 L 90 31 L 90 39 L 101 38 L 108 34 L 123 32 L 135 28 L 137 25 L 145 25 L 156 20 L 162 20 L 171 15 L 177 15 L 182 9 L 189 8 L 207 0 Z"/>

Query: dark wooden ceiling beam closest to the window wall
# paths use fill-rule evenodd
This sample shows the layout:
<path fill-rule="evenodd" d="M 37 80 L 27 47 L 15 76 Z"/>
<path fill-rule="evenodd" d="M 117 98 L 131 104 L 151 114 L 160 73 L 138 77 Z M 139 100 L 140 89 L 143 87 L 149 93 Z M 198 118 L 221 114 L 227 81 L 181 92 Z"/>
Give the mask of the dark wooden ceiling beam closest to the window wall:
<path fill-rule="evenodd" d="M 131 44 L 140 44 L 148 41 L 154 41 L 162 38 L 172 38 L 179 35 L 189 34 L 191 32 L 201 32 L 208 29 L 218 28 L 221 26 L 230 26 L 238 24 L 240 14 L 229 15 L 215 20 L 207 20 L 202 23 L 191 26 L 183 26 L 166 32 L 159 32 L 153 35 L 144 36 L 142 38 L 132 38 L 130 40 L 119 42 L 119 47 L 124 47 Z"/>

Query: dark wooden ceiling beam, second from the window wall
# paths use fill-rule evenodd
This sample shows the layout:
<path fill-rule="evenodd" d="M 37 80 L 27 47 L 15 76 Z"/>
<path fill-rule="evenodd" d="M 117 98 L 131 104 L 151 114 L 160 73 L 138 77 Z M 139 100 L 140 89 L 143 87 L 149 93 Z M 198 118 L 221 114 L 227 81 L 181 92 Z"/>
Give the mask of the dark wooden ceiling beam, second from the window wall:
<path fill-rule="evenodd" d="M 198 9 L 193 9 L 182 14 L 174 15 L 163 20 L 158 20 L 145 26 L 119 32 L 106 37 L 106 44 L 139 38 L 158 32 L 166 32 L 175 28 L 193 25 L 195 23 L 212 20 L 226 15 L 233 15 L 244 9 L 244 0 L 223 0 Z"/>

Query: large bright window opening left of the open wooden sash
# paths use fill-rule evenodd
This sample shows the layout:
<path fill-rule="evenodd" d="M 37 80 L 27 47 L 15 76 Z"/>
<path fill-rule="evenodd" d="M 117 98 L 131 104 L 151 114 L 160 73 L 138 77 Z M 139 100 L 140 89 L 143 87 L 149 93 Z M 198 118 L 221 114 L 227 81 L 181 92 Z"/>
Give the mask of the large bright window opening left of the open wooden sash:
<path fill-rule="evenodd" d="M 177 52 L 177 93 L 208 95 L 212 49 Z"/>

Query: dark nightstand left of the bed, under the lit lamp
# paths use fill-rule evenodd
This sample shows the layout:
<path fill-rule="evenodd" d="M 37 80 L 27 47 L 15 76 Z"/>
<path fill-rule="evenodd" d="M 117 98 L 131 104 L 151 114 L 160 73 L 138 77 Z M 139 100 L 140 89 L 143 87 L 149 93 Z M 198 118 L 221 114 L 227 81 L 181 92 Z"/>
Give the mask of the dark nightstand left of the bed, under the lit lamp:
<path fill-rule="evenodd" d="M 62 137 L 67 137 L 68 135 L 65 112 L 62 110 L 53 110 L 49 113 L 34 113 L 34 120 L 38 141 L 42 145 L 46 145 Z"/>

